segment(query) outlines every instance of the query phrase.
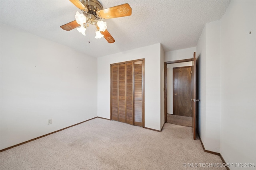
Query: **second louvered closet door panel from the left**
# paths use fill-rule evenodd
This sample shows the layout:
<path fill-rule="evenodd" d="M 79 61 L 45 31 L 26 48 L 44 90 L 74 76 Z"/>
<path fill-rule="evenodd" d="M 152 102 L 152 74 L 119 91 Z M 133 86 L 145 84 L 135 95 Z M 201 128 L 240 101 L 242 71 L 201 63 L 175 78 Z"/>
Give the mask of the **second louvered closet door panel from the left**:
<path fill-rule="evenodd" d="M 126 64 L 119 64 L 119 119 L 126 123 Z"/>

